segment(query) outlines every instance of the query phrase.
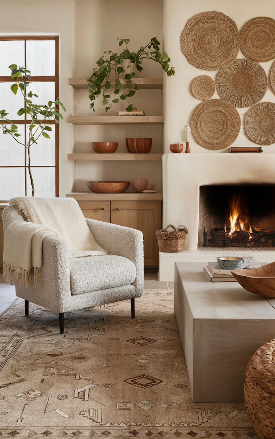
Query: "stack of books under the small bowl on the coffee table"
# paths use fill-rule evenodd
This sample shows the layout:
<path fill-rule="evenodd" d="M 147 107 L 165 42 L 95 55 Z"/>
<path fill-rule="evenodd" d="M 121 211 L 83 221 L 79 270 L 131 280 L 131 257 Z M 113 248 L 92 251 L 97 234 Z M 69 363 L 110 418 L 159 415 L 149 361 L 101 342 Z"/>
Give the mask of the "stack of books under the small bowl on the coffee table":
<path fill-rule="evenodd" d="M 253 257 L 243 258 L 243 268 L 257 268 L 261 267 L 261 264 Z M 209 282 L 237 282 L 231 270 L 225 270 L 221 268 L 218 262 L 208 262 L 204 267 L 204 274 Z"/>

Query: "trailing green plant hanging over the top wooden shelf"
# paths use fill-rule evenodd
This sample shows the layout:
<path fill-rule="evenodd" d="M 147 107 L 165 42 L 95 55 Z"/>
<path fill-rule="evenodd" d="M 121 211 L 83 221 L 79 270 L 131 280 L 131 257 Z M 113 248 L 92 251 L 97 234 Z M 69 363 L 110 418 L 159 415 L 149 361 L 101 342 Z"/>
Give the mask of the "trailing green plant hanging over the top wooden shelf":
<path fill-rule="evenodd" d="M 151 38 L 151 41 L 147 46 L 140 47 L 140 49 L 135 52 L 130 52 L 127 45 L 129 43 L 129 39 L 121 39 L 119 40 L 119 47 L 115 52 L 111 50 L 104 52 L 104 55 L 100 57 L 100 59 L 96 62 L 97 67 L 93 69 L 92 75 L 87 79 L 89 82 L 89 98 L 92 101 L 90 107 L 94 109 L 94 103 L 96 98 L 100 95 L 101 91 L 103 91 L 103 100 L 102 105 L 106 105 L 105 110 L 110 110 L 112 104 L 117 104 L 120 97 L 122 101 L 125 99 L 128 102 L 128 97 L 134 96 L 137 90 L 139 90 L 138 85 L 135 83 L 133 78 L 135 77 L 135 72 L 125 74 L 126 84 L 121 84 L 119 75 L 125 72 L 125 69 L 121 66 L 122 63 L 125 64 L 125 61 L 129 61 L 127 64 L 127 68 L 132 67 L 136 68 L 139 72 L 143 70 L 141 67 L 143 59 L 151 59 L 155 62 L 158 62 L 163 68 L 164 72 L 167 73 L 168 76 L 175 75 L 174 67 L 169 67 L 169 62 L 171 61 L 168 58 L 165 52 L 160 52 L 159 44 L 157 41 L 157 37 Z M 125 47 L 121 47 L 125 44 Z M 121 47 L 121 51 L 119 48 Z M 111 79 L 114 78 L 114 97 L 111 98 L 110 88 L 111 88 Z M 124 90 L 128 89 L 128 92 Z M 111 100 L 110 100 L 111 98 Z M 128 102 L 129 104 L 129 102 Z M 126 108 L 127 111 L 132 111 L 132 104 L 129 104 Z"/>

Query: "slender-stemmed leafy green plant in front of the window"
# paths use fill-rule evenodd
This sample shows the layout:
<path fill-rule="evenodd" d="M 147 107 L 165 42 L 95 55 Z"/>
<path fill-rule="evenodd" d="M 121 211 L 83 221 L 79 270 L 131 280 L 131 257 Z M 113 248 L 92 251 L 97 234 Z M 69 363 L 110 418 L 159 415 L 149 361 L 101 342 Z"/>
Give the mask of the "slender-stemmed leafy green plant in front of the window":
<path fill-rule="evenodd" d="M 54 120 L 55 123 L 59 123 L 59 119 L 63 119 L 63 116 L 57 109 L 57 106 L 60 105 L 61 108 L 66 111 L 64 105 L 57 98 L 56 101 L 49 101 L 48 105 L 39 105 L 33 103 L 33 97 L 38 97 L 37 94 L 29 91 L 27 94 L 27 87 L 29 86 L 29 79 L 31 72 L 26 70 L 25 67 L 17 67 L 16 64 L 12 64 L 9 66 L 11 69 L 11 77 L 16 81 L 11 85 L 11 91 L 14 94 L 17 94 L 18 90 L 21 91 L 24 97 L 24 108 L 20 108 L 18 111 L 18 116 L 22 114 L 29 115 L 28 119 L 30 119 L 30 123 L 27 125 L 28 133 L 25 137 L 24 143 L 18 140 L 18 137 L 21 134 L 18 133 L 18 126 L 14 125 L 10 119 L 7 119 L 8 113 L 6 110 L 0 110 L 0 126 L 2 127 L 4 134 L 10 134 L 11 137 L 16 140 L 17 143 L 21 144 L 28 151 L 28 169 L 29 169 L 29 177 L 31 180 L 32 186 L 32 197 L 34 196 L 34 183 L 32 179 L 31 172 L 31 153 L 30 148 L 33 144 L 37 145 L 37 140 L 42 135 L 46 137 L 46 139 L 50 139 L 49 132 L 52 131 L 51 126 L 48 124 L 49 120 Z M 27 76 L 28 75 L 28 76 Z M 42 116 L 42 117 L 41 117 Z M 3 122 L 1 122 L 3 121 Z"/>

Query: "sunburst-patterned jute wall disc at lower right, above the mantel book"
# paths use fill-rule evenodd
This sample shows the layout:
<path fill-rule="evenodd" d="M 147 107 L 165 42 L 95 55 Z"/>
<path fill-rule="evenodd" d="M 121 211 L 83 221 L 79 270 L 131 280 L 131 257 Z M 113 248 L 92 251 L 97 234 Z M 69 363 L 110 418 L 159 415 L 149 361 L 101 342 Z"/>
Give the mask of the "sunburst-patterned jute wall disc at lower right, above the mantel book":
<path fill-rule="evenodd" d="M 244 120 L 247 136 L 258 145 L 275 143 L 275 104 L 259 102 L 247 112 Z"/>

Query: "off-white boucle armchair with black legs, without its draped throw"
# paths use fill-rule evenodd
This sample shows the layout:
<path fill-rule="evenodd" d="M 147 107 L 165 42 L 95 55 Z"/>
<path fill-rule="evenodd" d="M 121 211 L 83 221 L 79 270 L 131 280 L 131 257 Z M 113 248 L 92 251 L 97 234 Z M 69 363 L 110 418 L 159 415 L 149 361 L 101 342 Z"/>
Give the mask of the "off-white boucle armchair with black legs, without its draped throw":
<path fill-rule="evenodd" d="M 25 221 L 15 205 L 3 211 L 4 234 L 12 222 Z M 135 318 L 135 297 L 143 294 L 143 234 L 139 230 L 86 219 L 96 242 L 107 255 L 68 257 L 65 241 L 46 236 L 42 245 L 41 284 L 27 288 L 15 284 L 18 297 L 59 314 L 60 333 L 64 332 L 64 313 L 131 299 Z"/>

